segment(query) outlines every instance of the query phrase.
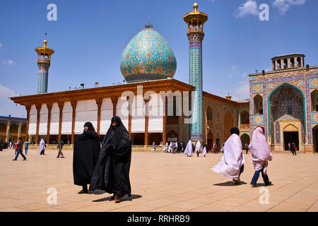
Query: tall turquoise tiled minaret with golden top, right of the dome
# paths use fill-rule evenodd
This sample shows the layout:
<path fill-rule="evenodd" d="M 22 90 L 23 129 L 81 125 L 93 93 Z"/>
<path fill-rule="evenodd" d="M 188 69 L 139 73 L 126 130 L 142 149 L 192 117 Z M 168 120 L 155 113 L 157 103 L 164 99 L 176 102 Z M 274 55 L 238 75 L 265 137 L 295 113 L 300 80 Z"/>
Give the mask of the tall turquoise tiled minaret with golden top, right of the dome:
<path fill-rule="evenodd" d="M 194 11 L 183 16 L 188 24 L 189 40 L 189 83 L 196 90 L 193 101 L 192 119 L 190 126 L 191 140 L 203 141 L 203 96 L 202 96 L 202 41 L 204 39 L 204 23 L 208 20 L 206 13 L 198 11 L 198 4 L 194 2 Z"/>

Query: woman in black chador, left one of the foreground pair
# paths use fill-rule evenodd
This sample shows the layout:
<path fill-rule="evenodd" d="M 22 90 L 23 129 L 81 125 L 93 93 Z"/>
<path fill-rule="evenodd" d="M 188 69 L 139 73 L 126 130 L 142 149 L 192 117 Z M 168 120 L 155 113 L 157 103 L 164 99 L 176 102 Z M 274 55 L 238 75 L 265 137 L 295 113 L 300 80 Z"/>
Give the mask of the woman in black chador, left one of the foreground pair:
<path fill-rule="evenodd" d="M 73 152 L 74 184 L 83 186 L 78 194 L 88 193 L 87 185 L 95 169 L 100 154 L 100 137 L 95 132 L 93 124 L 86 122 L 84 131 L 75 138 Z"/>

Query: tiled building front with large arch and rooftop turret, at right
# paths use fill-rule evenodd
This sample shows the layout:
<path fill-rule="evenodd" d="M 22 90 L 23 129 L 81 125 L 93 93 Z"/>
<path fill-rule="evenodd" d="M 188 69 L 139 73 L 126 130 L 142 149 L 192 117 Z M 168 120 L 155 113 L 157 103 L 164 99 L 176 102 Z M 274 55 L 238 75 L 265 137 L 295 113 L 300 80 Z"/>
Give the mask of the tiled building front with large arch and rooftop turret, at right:
<path fill-rule="evenodd" d="M 264 126 L 271 150 L 317 152 L 318 66 L 305 66 L 304 54 L 272 59 L 272 71 L 249 75 L 251 130 Z"/>

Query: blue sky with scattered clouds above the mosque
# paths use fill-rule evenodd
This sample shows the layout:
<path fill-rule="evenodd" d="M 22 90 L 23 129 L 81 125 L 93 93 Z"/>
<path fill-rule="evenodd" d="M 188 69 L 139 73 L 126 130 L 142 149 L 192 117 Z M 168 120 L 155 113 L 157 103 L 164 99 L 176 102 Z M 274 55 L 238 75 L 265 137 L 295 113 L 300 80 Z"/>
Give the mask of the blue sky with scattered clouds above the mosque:
<path fill-rule="evenodd" d="M 47 20 L 48 4 L 57 21 Z M 48 92 L 112 85 L 124 78 L 119 60 L 126 44 L 151 18 L 177 59 L 175 79 L 188 83 L 189 43 L 183 15 L 194 0 L 2 0 L 0 1 L 0 115 L 25 117 L 7 97 L 37 92 L 34 49 L 45 32 L 54 49 Z M 249 97 L 248 74 L 271 71 L 271 57 L 299 52 L 318 65 L 317 0 L 198 0 L 204 25 L 204 90 L 235 100 Z M 259 5 L 269 5 L 269 21 Z"/>

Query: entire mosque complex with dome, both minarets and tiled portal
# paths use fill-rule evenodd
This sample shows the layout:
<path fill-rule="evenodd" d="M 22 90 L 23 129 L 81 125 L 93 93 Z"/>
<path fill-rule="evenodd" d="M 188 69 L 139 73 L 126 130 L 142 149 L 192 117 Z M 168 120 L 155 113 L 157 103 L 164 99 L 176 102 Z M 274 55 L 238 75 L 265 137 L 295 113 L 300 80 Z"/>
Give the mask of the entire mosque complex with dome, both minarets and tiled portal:
<path fill-rule="evenodd" d="M 219 97 L 204 92 L 202 51 L 208 15 L 198 11 L 196 3 L 193 8 L 183 17 L 188 25 L 189 83 L 173 78 L 177 70 L 175 54 L 148 21 L 122 53 L 120 71 L 126 84 L 11 97 L 13 102 L 25 106 L 25 137 L 37 144 L 40 138 L 47 143 L 57 143 L 62 138 L 72 145 L 83 132 L 83 124 L 91 121 L 102 139 L 111 118 L 118 115 L 133 145 L 187 143 L 191 139 L 204 141 L 211 150 L 213 143 L 220 148 L 232 127 L 240 129 L 245 144 L 254 128 L 264 126 L 273 150 L 284 150 L 287 138 L 291 141 L 296 137 L 296 133 L 286 132 L 296 129 L 300 151 L 316 150 L 318 114 L 313 111 L 316 102 L 312 101 L 318 100 L 317 67 L 305 67 L 302 55 L 287 57 L 287 61 L 276 57 L 272 72 L 249 75 L 249 100 L 233 101 L 230 95 Z M 40 48 L 44 47 L 48 48 L 46 40 Z M 38 65 L 42 66 L 43 58 L 49 63 L 45 65 L 48 71 L 53 53 L 38 52 Z M 289 99 L 281 100 L 281 96 Z M 288 112 L 292 113 L 283 114 L 285 105 L 290 106 Z"/>

